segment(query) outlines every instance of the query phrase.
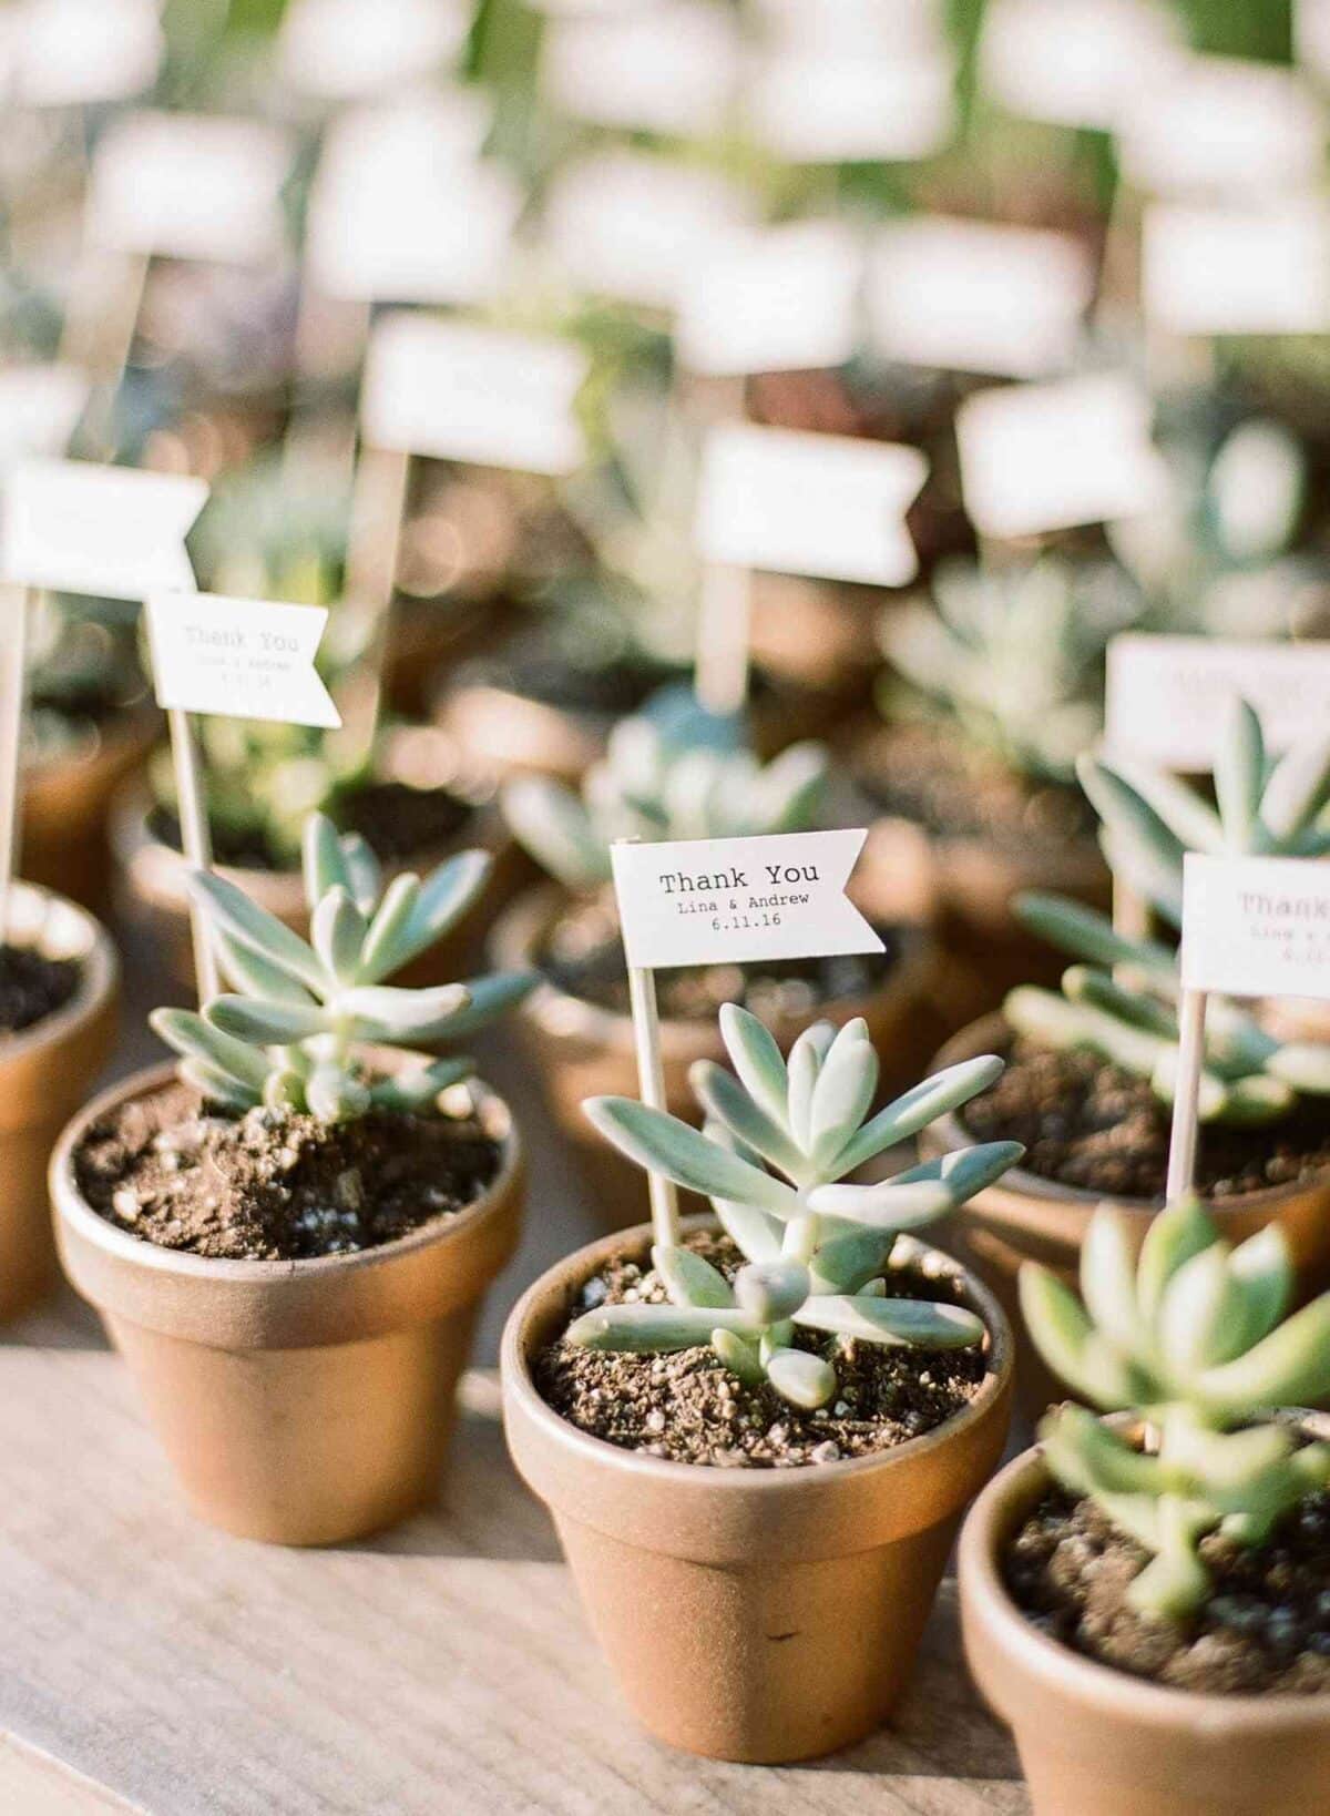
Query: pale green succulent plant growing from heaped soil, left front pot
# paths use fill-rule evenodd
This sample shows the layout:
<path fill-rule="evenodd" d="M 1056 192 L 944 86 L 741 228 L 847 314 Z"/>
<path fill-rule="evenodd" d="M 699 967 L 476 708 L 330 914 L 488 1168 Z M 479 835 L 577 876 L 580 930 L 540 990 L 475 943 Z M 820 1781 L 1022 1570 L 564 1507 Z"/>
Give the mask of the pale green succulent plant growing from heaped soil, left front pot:
<path fill-rule="evenodd" d="M 191 893 L 205 915 L 234 993 L 191 1010 L 154 1010 L 161 1039 L 181 1055 L 180 1073 L 209 1102 L 243 1113 L 258 1104 L 307 1110 L 323 1122 L 370 1106 L 428 1110 L 466 1079 L 470 1059 L 421 1061 L 370 1079 L 357 1048 L 417 1051 L 474 1033 L 533 988 L 528 973 L 406 990 L 385 984 L 459 919 L 490 868 L 486 852 L 459 852 L 421 881 L 383 888 L 379 864 L 357 835 L 332 821 L 305 826 L 310 941 L 212 872 L 196 870 Z"/>

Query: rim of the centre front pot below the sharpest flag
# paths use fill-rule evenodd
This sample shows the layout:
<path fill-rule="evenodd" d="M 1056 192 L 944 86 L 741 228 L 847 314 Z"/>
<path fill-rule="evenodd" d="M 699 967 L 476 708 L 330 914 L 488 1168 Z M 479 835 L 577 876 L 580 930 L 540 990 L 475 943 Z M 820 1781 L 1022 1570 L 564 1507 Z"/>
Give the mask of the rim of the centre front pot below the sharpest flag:
<path fill-rule="evenodd" d="M 680 1229 L 684 1235 L 691 1229 L 715 1224 L 717 1219 L 713 1213 L 699 1213 L 695 1217 L 680 1219 Z M 655 1480 L 660 1485 L 704 1485 L 708 1489 L 715 1489 L 719 1495 L 758 1493 L 769 1502 L 778 1502 L 782 1496 L 791 1498 L 806 1495 L 813 1482 L 829 1485 L 873 1475 L 882 1469 L 909 1467 L 911 1462 L 940 1449 L 953 1438 L 969 1433 L 974 1426 L 987 1418 L 994 1402 L 1009 1386 L 1014 1369 L 1014 1340 L 1002 1306 L 983 1282 L 953 1255 L 947 1255 L 945 1249 L 920 1244 L 920 1249 L 925 1255 L 942 1255 L 947 1264 L 958 1271 L 965 1282 L 967 1295 L 983 1318 L 987 1333 L 989 1371 L 978 1395 L 969 1402 L 969 1406 L 953 1413 L 951 1418 L 945 1418 L 940 1426 L 934 1426 L 931 1431 L 924 1431 L 916 1438 L 907 1438 L 905 1444 L 896 1444 L 885 1451 L 873 1451 L 869 1456 L 842 1456 L 836 1462 L 806 1464 L 791 1469 L 724 1469 L 715 1464 L 680 1464 L 668 1456 L 646 1456 L 641 1451 L 628 1451 L 619 1444 L 610 1444 L 608 1438 L 597 1438 L 590 1431 L 582 1431 L 581 1426 L 564 1418 L 562 1413 L 555 1413 L 550 1402 L 541 1397 L 526 1360 L 526 1329 L 535 1313 L 541 1309 L 546 1295 L 557 1291 L 564 1284 L 564 1278 L 566 1284 L 572 1286 L 573 1280 L 588 1277 L 602 1260 L 608 1260 L 621 1249 L 642 1242 L 650 1244 L 650 1240 L 651 1224 L 635 1224 L 631 1229 L 619 1229 L 608 1237 L 599 1237 L 595 1242 L 588 1242 L 582 1248 L 573 1249 L 572 1255 L 564 1255 L 562 1260 L 553 1264 L 553 1268 L 546 1268 L 546 1271 L 526 1288 L 523 1297 L 508 1313 L 503 1327 L 499 1369 L 504 1393 L 513 1397 L 523 1415 L 533 1420 L 543 1433 L 555 1436 L 562 1444 L 570 1444 L 573 1455 L 584 1460 L 588 1469 L 613 1469 L 617 1475 L 631 1475 L 637 1480 Z"/>

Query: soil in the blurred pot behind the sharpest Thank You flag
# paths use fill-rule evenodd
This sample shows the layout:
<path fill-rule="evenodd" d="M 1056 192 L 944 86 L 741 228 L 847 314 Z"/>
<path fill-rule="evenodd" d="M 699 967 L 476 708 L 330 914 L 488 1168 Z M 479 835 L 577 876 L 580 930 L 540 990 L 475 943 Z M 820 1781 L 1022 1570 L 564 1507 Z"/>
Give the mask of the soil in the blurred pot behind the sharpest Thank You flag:
<path fill-rule="evenodd" d="M 679 1021 L 715 1021 L 724 1002 L 740 1002 L 769 1021 L 809 1015 L 826 1002 L 871 995 L 882 988 L 902 955 L 898 930 L 878 926 L 876 933 L 885 952 L 657 972 L 660 1013 Z M 570 997 L 628 1015 L 628 968 L 619 923 L 602 897 L 570 906 L 550 928 L 535 962 Z"/>

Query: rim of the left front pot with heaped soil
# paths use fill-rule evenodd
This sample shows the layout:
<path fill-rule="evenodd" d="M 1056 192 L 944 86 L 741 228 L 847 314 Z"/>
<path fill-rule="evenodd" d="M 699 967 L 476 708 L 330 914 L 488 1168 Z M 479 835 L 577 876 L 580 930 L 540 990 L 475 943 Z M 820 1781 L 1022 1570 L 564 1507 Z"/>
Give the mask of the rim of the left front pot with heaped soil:
<path fill-rule="evenodd" d="M 174 1079 L 174 1062 L 163 1061 L 156 1066 L 132 1071 L 127 1079 L 120 1079 L 116 1084 L 107 1086 L 107 1090 L 98 1091 L 62 1130 L 51 1153 L 49 1168 L 51 1200 L 58 1219 L 67 1222 L 91 1246 L 131 1266 L 147 1268 L 152 1273 L 178 1275 L 189 1280 L 223 1280 L 241 1286 L 249 1282 L 267 1286 L 278 1280 L 312 1284 L 327 1275 L 374 1273 L 419 1249 L 461 1240 L 521 1180 L 524 1153 L 517 1120 L 508 1100 L 484 1084 L 483 1079 L 472 1079 L 468 1082 L 474 1088 L 479 1086 L 486 1104 L 497 1104 L 504 1117 L 504 1130 L 499 1137 L 499 1171 L 477 1199 L 472 1199 L 465 1209 L 455 1211 L 446 1220 L 437 1222 L 437 1226 L 430 1220 L 403 1237 L 394 1237 L 392 1242 L 356 1249 L 350 1255 L 308 1255 L 294 1260 L 238 1260 L 163 1248 L 158 1242 L 149 1242 L 145 1237 L 118 1229 L 93 1209 L 74 1177 L 74 1151 L 98 1117 L 131 1097 L 151 1095 Z"/>

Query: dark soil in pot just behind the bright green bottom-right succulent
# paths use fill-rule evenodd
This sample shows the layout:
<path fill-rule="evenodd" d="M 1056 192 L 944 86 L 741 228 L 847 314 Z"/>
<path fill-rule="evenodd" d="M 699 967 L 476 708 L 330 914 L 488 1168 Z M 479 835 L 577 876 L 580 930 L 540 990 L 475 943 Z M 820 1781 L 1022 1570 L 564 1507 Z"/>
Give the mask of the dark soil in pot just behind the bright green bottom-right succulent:
<path fill-rule="evenodd" d="M 962 1111 L 974 1140 L 1025 1142 L 1022 1168 L 1081 1191 L 1163 1200 L 1169 1108 L 1138 1079 L 1089 1051 L 1012 1042 L 998 1082 Z M 1234 1199 L 1312 1182 L 1330 1170 L 1330 1113 L 1308 1099 L 1261 1128 L 1203 1122 L 1196 1186 Z"/>

